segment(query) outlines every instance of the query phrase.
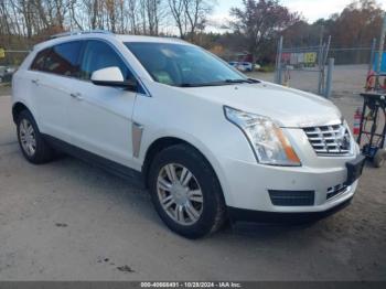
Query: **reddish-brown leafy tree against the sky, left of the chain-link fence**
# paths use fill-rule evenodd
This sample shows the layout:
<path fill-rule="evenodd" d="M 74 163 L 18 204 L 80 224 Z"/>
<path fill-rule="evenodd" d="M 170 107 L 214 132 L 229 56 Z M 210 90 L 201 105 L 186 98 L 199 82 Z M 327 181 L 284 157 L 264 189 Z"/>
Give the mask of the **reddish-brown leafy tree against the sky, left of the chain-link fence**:
<path fill-rule="evenodd" d="M 298 13 L 291 13 L 278 0 L 243 0 L 243 6 L 230 9 L 230 15 L 236 19 L 232 25 L 246 38 L 248 50 L 255 56 L 267 42 L 300 20 Z"/>

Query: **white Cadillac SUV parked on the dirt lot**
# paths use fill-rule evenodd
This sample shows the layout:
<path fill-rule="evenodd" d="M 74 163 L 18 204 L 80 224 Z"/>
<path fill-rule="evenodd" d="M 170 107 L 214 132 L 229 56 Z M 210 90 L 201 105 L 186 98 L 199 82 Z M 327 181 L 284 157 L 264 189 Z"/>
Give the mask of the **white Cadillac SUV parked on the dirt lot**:
<path fill-rule="evenodd" d="M 164 223 L 191 238 L 227 218 L 331 212 L 362 173 L 332 103 L 176 39 L 61 35 L 34 47 L 12 88 L 30 162 L 61 150 L 143 180 Z"/>

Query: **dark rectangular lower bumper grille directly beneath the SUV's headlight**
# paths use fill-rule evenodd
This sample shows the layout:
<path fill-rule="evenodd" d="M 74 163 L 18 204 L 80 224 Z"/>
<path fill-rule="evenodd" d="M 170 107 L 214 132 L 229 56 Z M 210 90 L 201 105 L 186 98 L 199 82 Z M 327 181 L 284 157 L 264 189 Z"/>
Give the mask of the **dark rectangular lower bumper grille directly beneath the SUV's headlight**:
<path fill-rule="evenodd" d="M 278 206 L 310 206 L 314 205 L 314 191 L 275 191 L 269 190 L 269 197 Z"/>

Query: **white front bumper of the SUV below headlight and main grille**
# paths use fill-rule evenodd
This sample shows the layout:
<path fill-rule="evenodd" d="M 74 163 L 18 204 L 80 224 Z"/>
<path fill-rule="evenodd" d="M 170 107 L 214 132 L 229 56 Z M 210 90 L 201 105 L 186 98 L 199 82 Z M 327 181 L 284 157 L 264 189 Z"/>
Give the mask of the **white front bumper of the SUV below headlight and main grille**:
<path fill-rule="evenodd" d="M 296 148 L 296 151 L 302 160 L 302 167 L 262 165 L 256 161 L 221 158 L 224 176 L 221 182 L 223 189 L 226 188 L 224 194 L 228 211 L 244 210 L 285 215 L 323 213 L 347 203 L 354 196 L 357 181 L 345 185 L 346 163 L 356 159 L 358 151 L 347 157 L 319 157 L 301 130 L 288 129 L 288 132 L 297 139 L 292 143 L 301 146 Z M 331 193 L 335 188 L 342 186 L 342 190 Z M 297 205 L 294 202 L 278 205 L 278 202 L 272 200 L 271 191 L 278 191 L 281 195 L 286 192 L 312 192 L 313 199 L 308 204 Z"/>

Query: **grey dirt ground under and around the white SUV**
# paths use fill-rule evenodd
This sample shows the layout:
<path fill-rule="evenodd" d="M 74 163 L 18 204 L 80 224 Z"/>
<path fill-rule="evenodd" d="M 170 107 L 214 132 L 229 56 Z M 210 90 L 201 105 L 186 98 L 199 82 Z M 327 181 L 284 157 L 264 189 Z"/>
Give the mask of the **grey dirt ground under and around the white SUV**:
<path fill-rule="evenodd" d="M 353 74 L 362 73 L 339 72 L 332 98 L 350 124 L 362 89 Z M 317 224 L 237 224 L 187 240 L 162 224 L 147 192 L 115 175 L 69 157 L 29 164 L 7 94 L 0 280 L 386 280 L 386 168 L 367 165 L 353 203 Z"/>

